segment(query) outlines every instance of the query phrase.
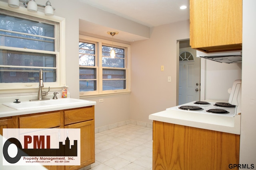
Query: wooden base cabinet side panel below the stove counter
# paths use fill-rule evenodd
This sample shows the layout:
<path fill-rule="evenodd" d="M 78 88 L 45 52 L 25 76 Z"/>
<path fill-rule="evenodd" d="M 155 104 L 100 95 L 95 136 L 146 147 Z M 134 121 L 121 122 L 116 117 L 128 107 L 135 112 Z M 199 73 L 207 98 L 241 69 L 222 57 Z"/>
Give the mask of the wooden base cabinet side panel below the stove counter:
<path fill-rule="evenodd" d="M 153 170 L 224 170 L 239 164 L 240 135 L 153 121 Z"/>

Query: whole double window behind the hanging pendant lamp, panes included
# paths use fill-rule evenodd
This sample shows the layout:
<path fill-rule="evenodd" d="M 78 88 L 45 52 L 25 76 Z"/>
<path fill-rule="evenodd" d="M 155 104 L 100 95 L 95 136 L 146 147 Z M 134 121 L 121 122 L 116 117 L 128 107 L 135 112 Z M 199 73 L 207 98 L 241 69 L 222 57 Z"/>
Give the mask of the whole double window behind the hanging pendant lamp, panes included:
<path fill-rule="evenodd" d="M 130 45 L 115 43 L 116 57 L 112 59 L 111 44 L 111 41 L 80 35 L 80 96 L 130 92 Z"/>

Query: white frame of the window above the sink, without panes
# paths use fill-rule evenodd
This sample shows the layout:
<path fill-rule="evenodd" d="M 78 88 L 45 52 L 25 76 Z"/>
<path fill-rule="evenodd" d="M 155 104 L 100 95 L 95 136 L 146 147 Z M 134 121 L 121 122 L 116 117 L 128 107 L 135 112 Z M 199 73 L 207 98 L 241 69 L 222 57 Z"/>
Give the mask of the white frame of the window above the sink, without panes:
<path fill-rule="evenodd" d="M 0 9 L 15 12 L 18 14 L 31 15 L 31 12 L 22 6 L 20 8 L 10 8 L 7 3 L 0 2 Z M 55 51 L 42 51 L 34 49 L 21 49 L 16 47 L 6 47 L 0 46 L 0 49 L 4 50 L 14 50 L 14 51 L 26 51 L 26 52 L 35 52 L 35 53 L 48 53 L 56 55 L 56 82 L 44 82 L 44 87 L 50 87 L 50 91 L 60 91 L 63 85 L 66 85 L 66 19 L 58 16 L 45 16 L 44 12 L 33 13 L 33 17 L 54 21 L 59 23 L 59 29 L 55 30 L 55 34 L 59 34 L 58 41 L 59 47 L 55 47 Z M 39 82 L 38 82 L 39 83 Z M 34 92 L 38 89 L 38 83 L 0 83 L 0 94 L 11 94 L 11 93 L 27 93 Z"/>

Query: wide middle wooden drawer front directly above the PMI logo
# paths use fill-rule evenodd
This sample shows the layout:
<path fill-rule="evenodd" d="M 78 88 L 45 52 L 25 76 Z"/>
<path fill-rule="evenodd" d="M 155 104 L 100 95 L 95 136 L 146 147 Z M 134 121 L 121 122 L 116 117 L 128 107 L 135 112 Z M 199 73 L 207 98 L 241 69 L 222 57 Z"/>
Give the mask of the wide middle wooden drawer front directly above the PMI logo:
<path fill-rule="evenodd" d="M 60 112 L 37 114 L 19 118 L 20 128 L 52 128 L 60 126 Z"/>

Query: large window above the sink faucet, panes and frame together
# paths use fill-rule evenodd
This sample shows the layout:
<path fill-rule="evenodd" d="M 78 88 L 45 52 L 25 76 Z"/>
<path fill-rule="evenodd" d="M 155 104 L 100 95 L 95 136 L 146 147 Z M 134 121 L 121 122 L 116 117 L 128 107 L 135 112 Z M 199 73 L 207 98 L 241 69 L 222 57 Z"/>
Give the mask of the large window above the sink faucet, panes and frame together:
<path fill-rule="evenodd" d="M 63 35 L 60 30 L 64 19 L 56 18 L 51 21 L 1 10 L 0 88 L 19 88 L 19 92 L 22 88 L 38 88 L 41 68 L 44 86 L 65 84 L 60 76 L 64 69 L 60 63 L 65 63 L 65 57 L 60 57 L 64 45 L 60 44 Z"/>

